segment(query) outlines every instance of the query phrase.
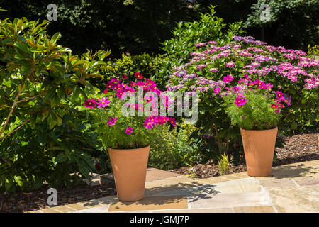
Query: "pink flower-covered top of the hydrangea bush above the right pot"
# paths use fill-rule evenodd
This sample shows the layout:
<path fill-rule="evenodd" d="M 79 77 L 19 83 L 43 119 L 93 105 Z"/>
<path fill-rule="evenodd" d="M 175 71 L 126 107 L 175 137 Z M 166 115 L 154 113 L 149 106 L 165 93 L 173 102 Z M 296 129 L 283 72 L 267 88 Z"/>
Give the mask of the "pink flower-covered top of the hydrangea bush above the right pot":
<path fill-rule="evenodd" d="M 233 42 L 222 46 L 210 41 L 198 43 L 196 47 L 198 51 L 191 52 L 188 63 L 173 68 L 167 90 L 214 96 L 220 93 L 220 87 L 244 74 L 254 79 L 298 83 L 300 89 L 315 89 L 319 85 L 319 61 L 306 57 L 301 50 L 267 45 L 251 36 L 234 36 Z M 276 87 L 280 86 L 276 84 Z"/>

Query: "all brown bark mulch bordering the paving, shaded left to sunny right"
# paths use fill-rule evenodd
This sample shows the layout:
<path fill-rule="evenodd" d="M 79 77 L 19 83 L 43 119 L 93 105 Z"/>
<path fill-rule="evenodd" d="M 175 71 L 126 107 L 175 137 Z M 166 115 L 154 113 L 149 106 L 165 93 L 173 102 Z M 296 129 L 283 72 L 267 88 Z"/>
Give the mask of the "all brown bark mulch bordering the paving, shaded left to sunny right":
<path fill-rule="evenodd" d="M 284 138 L 284 148 L 276 148 L 276 165 L 286 165 L 294 162 L 318 160 L 318 135 L 319 133 L 294 135 Z M 170 170 L 181 175 L 190 174 L 194 177 L 206 178 L 220 176 L 218 165 L 213 160 L 205 165 L 183 167 L 178 170 Z M 246 171 L 245 162 L 230 165 L 230 173 Z M 57 203 L 60 205 L 73 204 L 80 201 L 97 199 L 116 194 L 114 184 L 88 186 L 81 185 L 71 189 L 57 189 Z M 0 212 L 26 212 L 47 208 L 47 189 L 34 190 L 10 195 L 0 195 Z"/>

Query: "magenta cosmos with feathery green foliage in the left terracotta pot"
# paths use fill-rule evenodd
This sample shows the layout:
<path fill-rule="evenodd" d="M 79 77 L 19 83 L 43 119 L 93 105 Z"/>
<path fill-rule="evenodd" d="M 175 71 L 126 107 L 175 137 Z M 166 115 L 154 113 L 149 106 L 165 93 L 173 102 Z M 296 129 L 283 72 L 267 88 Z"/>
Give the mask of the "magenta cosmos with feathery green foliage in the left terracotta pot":
<path fill-rule="evenodd" d="M 174 117 L 160 115 L 162 113 L 159 113 L 158 102 L 169 102 L 169 99 L 157 88 L 157 84 L 143 78 L 140 72 L 136 72 L 135 77 L 135 82 L 129 84 L 121 79 L 111 78 L 101 97 L 87 99 L 83 103 L 94 116 L 94 129 L 104 148 L 143 148 L 159 137 L 164 127 L 174 127 L 177 124 Z M 140 96 L 138 89 L 145 95 Z M 147 92 L 154 93 L 147 95 Z M 134 101 L 130 101 L 130 95 L 134 97 Z M 145 111 L 147 104 L 150 107 L 149 113 Z M 164 106 L 168 111 L 169 105 L 165 103 Z M 123 109 L 128 114 L 124 114 Z M 134 114 L 130 114 L 130 111 Z M 147 113 L 148 116 L 145 116 Z"/>

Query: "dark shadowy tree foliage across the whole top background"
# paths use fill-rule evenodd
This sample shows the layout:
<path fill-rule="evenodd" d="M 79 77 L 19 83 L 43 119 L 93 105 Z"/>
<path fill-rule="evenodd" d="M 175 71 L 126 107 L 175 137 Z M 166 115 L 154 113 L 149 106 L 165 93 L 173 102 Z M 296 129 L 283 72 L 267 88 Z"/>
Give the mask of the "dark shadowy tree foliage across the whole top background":
<path fill-rule="evenodd" d="M 48 0 L 0 0 L 2 18 L 46 19 Z M 271 21 L 260 23 L 260 5 L 271 6 Z M 225 23 L 244 21 L 247 33 L 271 45 L 307 50 L 318 44 L 318 1 L 307 0 L 57 0 L 57 21 L 48 32 L 60 31 L 62 45 L 74 54 L 110 49 L 110 57 L 142 52 L 159 53 L 164 40 L 172 38 L 179 21 L 194 21 L 208 6 L 217 5 L 216 16 Z M 262 35 L 262 28 L 264 35 Z"/>

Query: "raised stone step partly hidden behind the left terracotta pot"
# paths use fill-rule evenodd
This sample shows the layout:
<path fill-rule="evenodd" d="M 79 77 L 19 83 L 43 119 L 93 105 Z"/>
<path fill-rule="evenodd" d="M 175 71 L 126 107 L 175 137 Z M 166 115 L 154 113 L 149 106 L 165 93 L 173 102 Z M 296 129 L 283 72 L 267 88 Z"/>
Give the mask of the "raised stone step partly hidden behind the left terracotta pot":
<path fill-rule="evenodd" d="M 159 170 L 156 168 L 148 167 L 146 172 L 146 182 L 152 182 L 159 179 L 166 179 L 169 177 L 178 177 L 181 176 L 174 172 L 169 172 L 165 170 Z M 114 182 L 113 173 L 108 173 L 106 175 L 100 175 L 100 184 L 109 184 Z"/>

